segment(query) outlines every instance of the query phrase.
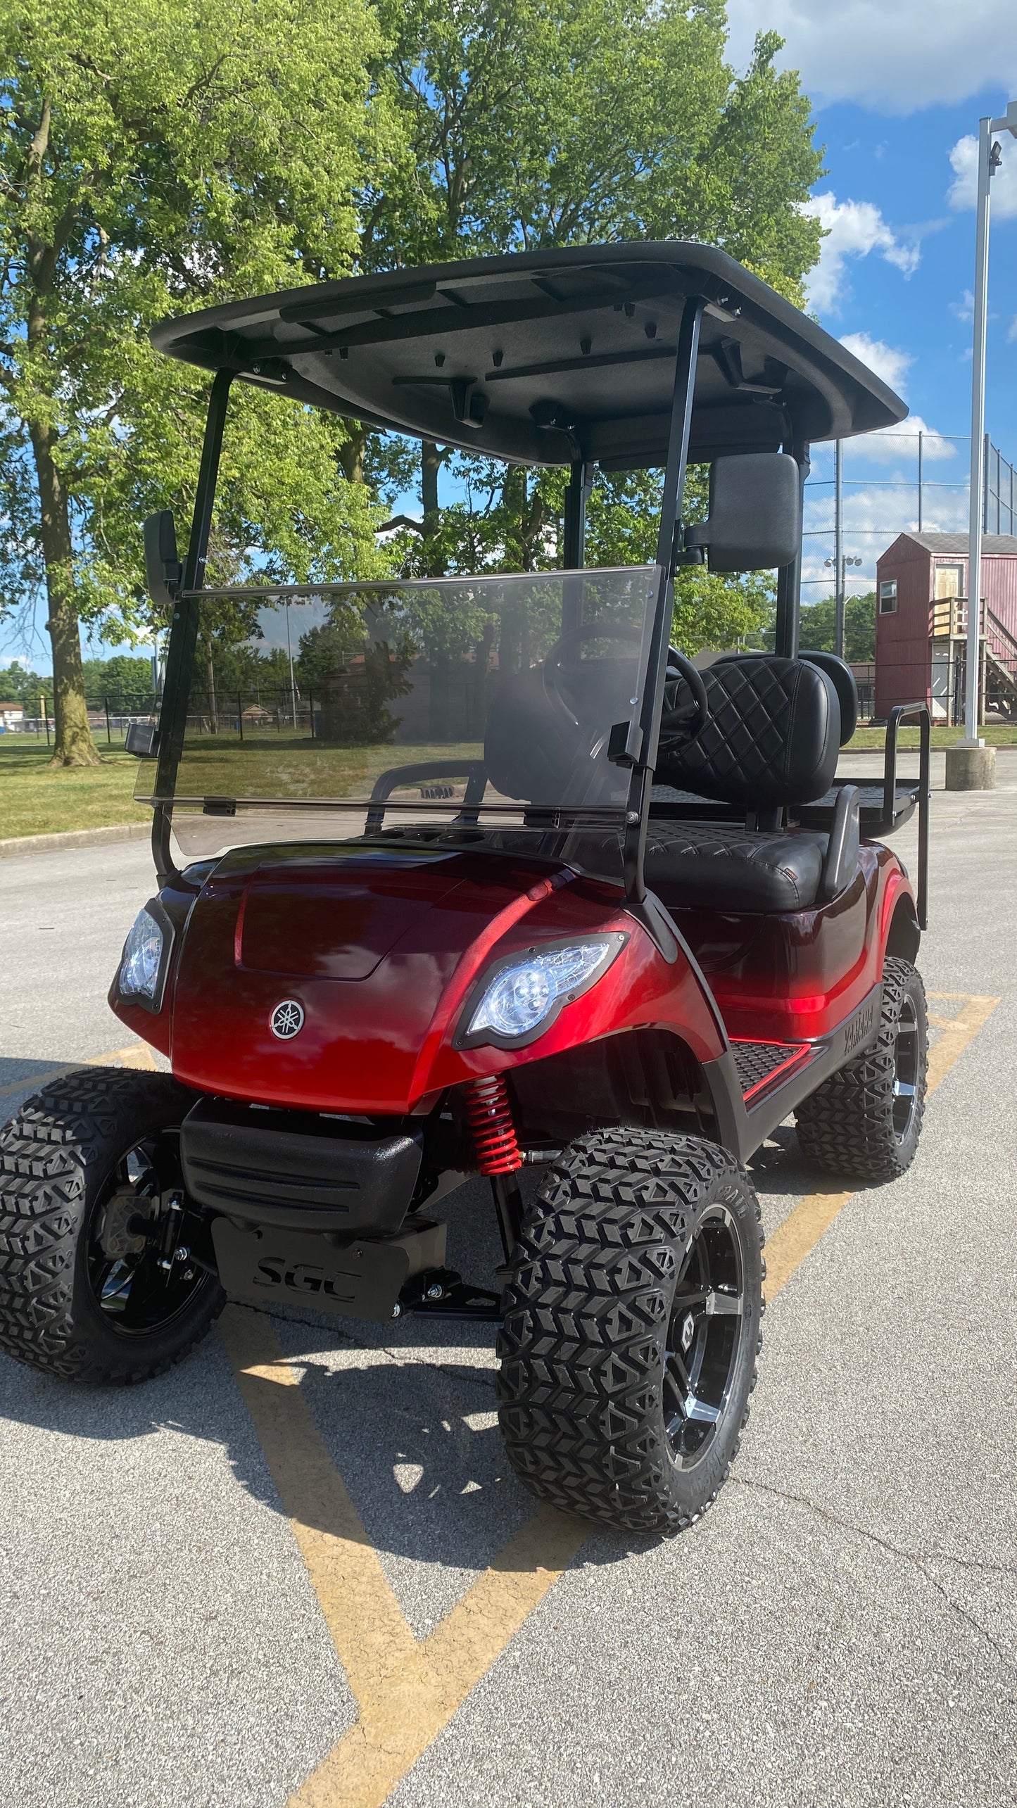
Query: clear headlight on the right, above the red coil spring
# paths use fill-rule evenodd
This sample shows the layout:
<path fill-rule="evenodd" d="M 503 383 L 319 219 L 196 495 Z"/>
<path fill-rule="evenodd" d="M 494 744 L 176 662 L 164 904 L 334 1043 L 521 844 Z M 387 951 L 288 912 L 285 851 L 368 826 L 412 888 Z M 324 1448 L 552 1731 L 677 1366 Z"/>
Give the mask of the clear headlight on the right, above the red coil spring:
<path fill-rule="evenodd" d="M 469 1011 L 460 1047 L 474 1041 L 518 1047 L 530 1040 L 548 1027 L 563 1003 L 606 973 L 626 940 L 624 935 L 592 937 L 565 947 L 528 949 L 503 962 Z"/>

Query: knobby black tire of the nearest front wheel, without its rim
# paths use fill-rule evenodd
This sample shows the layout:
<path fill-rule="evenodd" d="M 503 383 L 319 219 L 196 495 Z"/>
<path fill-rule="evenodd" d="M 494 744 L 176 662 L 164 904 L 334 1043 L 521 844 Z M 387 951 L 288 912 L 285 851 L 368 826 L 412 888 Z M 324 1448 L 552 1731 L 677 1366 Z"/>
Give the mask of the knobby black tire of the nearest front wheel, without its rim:
<path fill-rule="evenodd" d="M 512 1255 L 499 1334 L 501 1434 L 537 1499 L 650 1537 L 684 1531 L 717 1499 L 749 1417 L 762 1329 L 724 1466 L 693 1508 L 670 1483 L 662 1347 L 668 1278 L 699 1211 L 726 1193 L 747 1206 L 762 1249 L 753 1186 L 713 1143 L 604 1130 L 552 1164 Z"/>

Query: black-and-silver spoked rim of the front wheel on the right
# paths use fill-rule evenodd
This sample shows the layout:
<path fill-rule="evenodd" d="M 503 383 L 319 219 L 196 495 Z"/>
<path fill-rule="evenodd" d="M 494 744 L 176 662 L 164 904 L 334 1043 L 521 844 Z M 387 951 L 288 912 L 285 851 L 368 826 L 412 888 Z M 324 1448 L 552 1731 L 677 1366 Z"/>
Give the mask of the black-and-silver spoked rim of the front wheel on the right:
<path fill-rule="evenodd" d="M 702 1463 L 727 1410 L 746 1322 L 742 1246 L 726 1206 L 686 1246 L 664 1345 L 664 1432 L 679 1468 Z"/>

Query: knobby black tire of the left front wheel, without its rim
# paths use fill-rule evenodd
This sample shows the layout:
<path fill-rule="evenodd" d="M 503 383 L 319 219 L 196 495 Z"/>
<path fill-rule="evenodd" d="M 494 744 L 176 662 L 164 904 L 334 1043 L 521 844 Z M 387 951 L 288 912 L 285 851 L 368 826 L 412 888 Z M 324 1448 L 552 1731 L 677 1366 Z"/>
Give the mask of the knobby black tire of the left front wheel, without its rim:
<path fill-rule="evenodd" d="M 179 1309 L 123 1331 L 90 1282 L 96 1215 L 118 1168 L 163 1146 L 190 1105 L 168 1074 L 85 1067 L 27 1099 L 0 1132 L 0 1349 L 63 1380 L 143 1381 L 179 1361 L 224 1304 L 212 1275 L 177 1287 Z M 138 1242 L 138 1237 L 134 1238 Z"/>

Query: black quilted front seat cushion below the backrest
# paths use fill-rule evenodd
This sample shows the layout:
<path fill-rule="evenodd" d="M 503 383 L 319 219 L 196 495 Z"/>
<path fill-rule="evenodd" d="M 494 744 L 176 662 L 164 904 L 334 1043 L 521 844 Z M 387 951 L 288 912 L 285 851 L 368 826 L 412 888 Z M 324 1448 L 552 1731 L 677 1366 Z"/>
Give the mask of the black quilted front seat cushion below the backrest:
<path fill-rule="evenodd" d="M 827 837 L 720 823 L 651 824 L 646 884 L 673 909 L 791 911 L 816 902 Z"/>

